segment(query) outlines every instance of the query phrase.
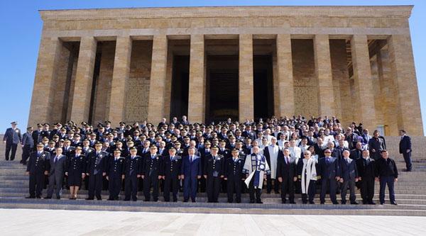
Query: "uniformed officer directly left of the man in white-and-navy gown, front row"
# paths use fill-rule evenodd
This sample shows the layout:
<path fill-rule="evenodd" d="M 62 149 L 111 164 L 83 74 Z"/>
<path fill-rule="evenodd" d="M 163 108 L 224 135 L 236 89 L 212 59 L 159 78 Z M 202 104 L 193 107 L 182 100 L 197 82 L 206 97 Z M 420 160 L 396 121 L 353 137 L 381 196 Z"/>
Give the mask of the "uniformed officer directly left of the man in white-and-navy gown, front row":
<path fill-rule="evenodd" d="M 231 151 L 232 158 L 226 159 L 224 169 L 224 179 L 227 181 L 228 202 L 241 203 L 241 180 L 244 180 L 243 167 L 244 160 L 239 156 L 240 151 L 234 148 Z"/>

